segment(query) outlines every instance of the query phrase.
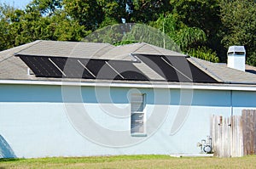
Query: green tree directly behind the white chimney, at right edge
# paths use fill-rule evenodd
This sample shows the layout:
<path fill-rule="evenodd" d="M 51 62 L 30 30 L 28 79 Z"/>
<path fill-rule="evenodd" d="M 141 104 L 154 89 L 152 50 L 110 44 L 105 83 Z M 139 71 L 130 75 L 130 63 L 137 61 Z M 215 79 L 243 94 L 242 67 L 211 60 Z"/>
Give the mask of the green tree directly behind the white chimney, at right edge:
<path fill-rule="evenodd" d="M 225 48 L 245 46 L 247 64 L 256 65 L 256 2 L 254 0 L 221 0 L 222 33 Z"/>

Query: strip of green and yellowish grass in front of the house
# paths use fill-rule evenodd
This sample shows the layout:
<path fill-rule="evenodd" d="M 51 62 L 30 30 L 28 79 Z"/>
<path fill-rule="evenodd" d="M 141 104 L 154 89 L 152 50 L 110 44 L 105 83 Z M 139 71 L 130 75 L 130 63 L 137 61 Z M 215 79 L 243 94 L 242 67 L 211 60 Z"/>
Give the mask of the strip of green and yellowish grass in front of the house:
<path fill-rule="evenodd" d="M 256 155 L 241 158 L 120 155 L 79 158 L 0 159 L 3 168 L 256 168 Z"/>

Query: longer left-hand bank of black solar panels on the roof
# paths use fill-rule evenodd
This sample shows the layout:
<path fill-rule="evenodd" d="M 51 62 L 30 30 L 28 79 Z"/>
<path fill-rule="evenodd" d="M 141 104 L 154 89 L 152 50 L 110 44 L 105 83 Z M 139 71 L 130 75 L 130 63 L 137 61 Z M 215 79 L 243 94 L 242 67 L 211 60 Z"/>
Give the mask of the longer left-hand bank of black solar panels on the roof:
<path fill-rule="evenodd" d="M 20 59 L 28 65 L 36 76 L 40 77 L 134 81 L 148 80 L 143 73 L 129 61 L 25 55 L 21 55 Z"/>

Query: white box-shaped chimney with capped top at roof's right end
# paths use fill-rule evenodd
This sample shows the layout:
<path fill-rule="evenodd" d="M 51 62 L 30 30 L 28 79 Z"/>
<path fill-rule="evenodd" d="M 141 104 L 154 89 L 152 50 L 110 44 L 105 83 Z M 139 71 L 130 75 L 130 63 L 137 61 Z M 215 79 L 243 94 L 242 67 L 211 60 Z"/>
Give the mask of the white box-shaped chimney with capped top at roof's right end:
<path fill-rule="evenodd" d="M 228 50 L 228 67 L 245 71 L 246 50 L 244 46 L 231 46 Z"/>

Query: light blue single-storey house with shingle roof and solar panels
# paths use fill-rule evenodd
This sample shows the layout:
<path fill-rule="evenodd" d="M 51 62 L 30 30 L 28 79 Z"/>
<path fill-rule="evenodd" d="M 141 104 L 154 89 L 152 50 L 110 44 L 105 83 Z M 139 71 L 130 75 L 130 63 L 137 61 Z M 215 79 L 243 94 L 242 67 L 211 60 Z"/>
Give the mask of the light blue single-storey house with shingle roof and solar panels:
<path fill-rule="evenodd" d="M 255 70 L 236 64 L 147 43 L 2 51 L 0 157 L 199 154 L 211 115 L 256 109 Z"/>

